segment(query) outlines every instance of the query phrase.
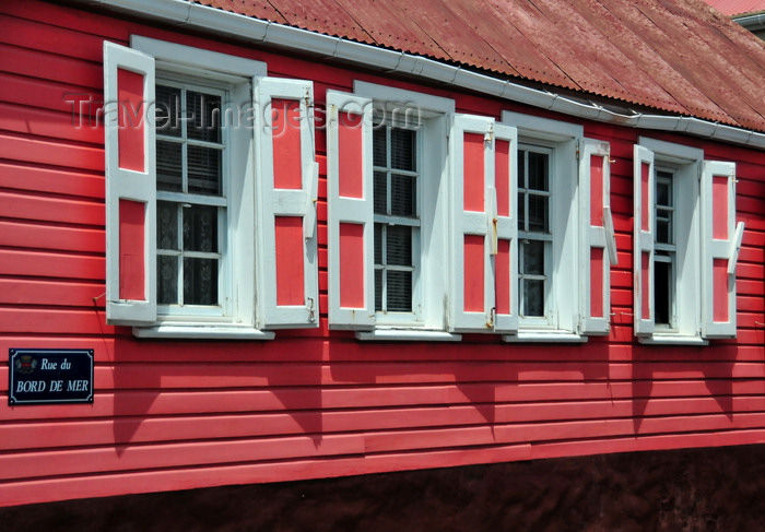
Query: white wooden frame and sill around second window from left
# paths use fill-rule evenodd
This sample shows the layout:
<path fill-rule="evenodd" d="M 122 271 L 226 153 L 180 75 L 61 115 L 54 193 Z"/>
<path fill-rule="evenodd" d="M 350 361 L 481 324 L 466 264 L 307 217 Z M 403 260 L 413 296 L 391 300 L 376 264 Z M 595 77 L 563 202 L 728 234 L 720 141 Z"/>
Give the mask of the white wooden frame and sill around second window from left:
<path fill-rule="evenodd" d="M 358 97 L 363 101 L 372 101 L 376 107 L 399 106 L 410 111 L 415 111 L 420 122 L 419 149 L 421 155 L 420 177 L 417 184 L 417 203 L 421 218 L 420 227 L 420 271 L 413 279 L 413 310 L 411 319 L 408 316 L 385 316 L 375 312 L 375 316 L 366 317 L 362 327 L 355 327 L 356 338 L 372 341 L 459 341 L 459 334 L 446 332 L 446 306 L 448 297 L 449 271 L 445 268 L 448 258 L 448 132 L 455 114 L 455 102 L 450 98 L 433 96 L 428 94 L 395 88 L 363 81 L 354 81 L 353 94 L 349 97 Z M 368 116 L 368 115 L 367 115 Z M 331 119 L 331 117 L 330 117 Z M 369 146 L 370 150 L 370 146 Z M 370 155 L 370 152 L 369 152 Z M 370 164 L 370 163 L 369 163 Z M 330 176 L 330 180 L 332 177 Z M 330 182 L 330 189 L 334 185 Z M 330 201 L 332 194 L 330 190 Z M 372 196 L 368 197 L 372 201 Z M 340 213 L 332 212 L 330 203 L 330 226 L 337 224 L 333 220 Z M 331 227 L 330 227 L 330 230 Z M 337 247 L 337 246 L 336 246 Z M 332 248 L 330 241 L 330 270 L 339 265 L 339 257 L 334 257 L 338 250 Z M 373 264 L 368 264 L 366 275 L 374 275 Z M 337 275 L 336 275 L 337 276 Z M 338 297 L 338 283 L 341 280 L 333 277 L 330 271 L 330 307 L 337 305 L 333 299 Z M 374 286 L 374 282 L 373 282 Z M 334 296 L 334 297 L 333 297 Z M 373 292 L 374 297 L 374 292 Z M 416 300 L 419 298 L 419 300 Z M 372 304 L 374 310 L 374 303 Z M 338 316 L 343 310 L 338 309 Z M 330 317 L 333 309 L 330 308 Z M 330 327 L 345 328 L 342 323 L 332 323 Z M 350 327 L 354 328 L 354 327 Z"/>

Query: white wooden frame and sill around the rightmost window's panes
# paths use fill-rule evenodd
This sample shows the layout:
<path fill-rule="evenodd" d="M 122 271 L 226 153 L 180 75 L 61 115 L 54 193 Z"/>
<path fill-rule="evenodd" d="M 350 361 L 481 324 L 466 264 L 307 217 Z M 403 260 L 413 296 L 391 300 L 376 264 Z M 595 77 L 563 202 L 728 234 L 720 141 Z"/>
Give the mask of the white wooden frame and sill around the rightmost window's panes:
<path fill-rule="evenodd" d="M 671 169 L 673 172 L 674 191 L 674 285 L 671 287 L 671 307 L 673 316 L 670 319 L 672 326 L 660 326 L 655 320 L 651 308 L 652 328 L 647 332 L 636 333 L 638 341 L 645 344 L 684 344 L 706 345 L 708 342 L 702 338 L 702 205 L 701 185 L 704 165 L 704 151 L 697 147 L 685 146 L 672 142 L 659 141 L 640 137 L 638 146 L 649 150 L 654 155 L 651 165 L 651 188 L 656 187 L 655 179 L 658 169 Z M 637 170 L 636 170 L 637 172 Z M 655 221 L 655 190 L 649 192 L 651 233 L 656 230 Z M 656 236 L 652 234 L 654 243 Z M 637 253 L 637 251 L 636 251 Z M 639 260 L 636 255 L 635 260 Z M 654 253 L 649 269 L 650 305 L 654 304 Z M 636 274 L 637 275 L 637 274 Z M 643 289 L 646 289 L 644 286 Z M 637 297 L 637 296 L 636 296 Z M 652 329 L 652 332 L 651 332 Z"/>

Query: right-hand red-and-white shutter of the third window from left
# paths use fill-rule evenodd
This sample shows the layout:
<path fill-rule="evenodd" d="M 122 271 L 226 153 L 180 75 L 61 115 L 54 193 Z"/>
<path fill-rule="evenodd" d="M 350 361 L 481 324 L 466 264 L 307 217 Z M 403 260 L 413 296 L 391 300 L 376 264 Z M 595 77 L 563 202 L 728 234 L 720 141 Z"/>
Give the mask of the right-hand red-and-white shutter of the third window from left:
<path fill-rule="evenodd" d="M 611 220 L 609 144 L 584 139 L 579 156 L 579 271 L 582 334 L 608 334 L 611 315 L 611 264 L 616 249 Z"/>

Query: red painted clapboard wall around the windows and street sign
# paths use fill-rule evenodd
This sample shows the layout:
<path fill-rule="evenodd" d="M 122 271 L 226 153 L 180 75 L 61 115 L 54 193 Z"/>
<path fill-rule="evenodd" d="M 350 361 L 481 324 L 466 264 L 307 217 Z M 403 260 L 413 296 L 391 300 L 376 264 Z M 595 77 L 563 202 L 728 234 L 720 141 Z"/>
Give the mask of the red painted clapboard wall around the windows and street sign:
<path fill-rule="evenodd" d="M 738 164 L 746 232 L 735 341 L 635 342 L 632 150 L 640 132 L 595 122 L 585 134 L 609 141 L 614 158 L 620 261 L 609 338 L 563 347 L 486 335 L 389 345 L 329 332 L 318 131 L 321 327 L 270 342 L 139 341 L 105 324 L 104 135 L 73 127 L 67 102 L 103 98 L 104 39 L 127 45 L 140 34 L 263 60 L 270 75 L 313 79 L 319 103 L 360 79 L 451 97 L 464 113 L 541 113 L 37 0 L 3 2 L 0 27 L 0 353 L 79 347 L 96 359 L 92 405 L 11 407 L 0 357 L 0 506 L 765 440 L 765 153 L 644 132 Z"/>

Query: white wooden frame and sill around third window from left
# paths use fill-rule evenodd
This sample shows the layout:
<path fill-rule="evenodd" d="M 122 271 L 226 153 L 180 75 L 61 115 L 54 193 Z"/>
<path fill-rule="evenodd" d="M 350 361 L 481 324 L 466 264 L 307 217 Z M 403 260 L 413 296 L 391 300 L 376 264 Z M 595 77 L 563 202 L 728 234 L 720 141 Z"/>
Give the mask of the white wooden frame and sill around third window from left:
<path fill-rule="evenodd" d="M 502 122 L 518 129 L 519 150 L 523 145 L 552 150 L 550 161 L 550 228 L 552 276 L 549 288 L 549 315 L 518 319 L 518 333 L 504 335 L 506 342 L 587 342 L 579 333 L 580 229 L 578 208 L 578 149 L 584 127 L 548 118 L 503 111 Z M 519 243 L 521 237 L 519 236 Z M 520 255 L 520 253 L 519 253 Z M 518 280 L 514 280 L 518 282 Z M 519 288 L 520 291 L 520 288 Z M 519 312 L 520 314 L 520 312 Z"/>

